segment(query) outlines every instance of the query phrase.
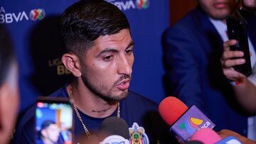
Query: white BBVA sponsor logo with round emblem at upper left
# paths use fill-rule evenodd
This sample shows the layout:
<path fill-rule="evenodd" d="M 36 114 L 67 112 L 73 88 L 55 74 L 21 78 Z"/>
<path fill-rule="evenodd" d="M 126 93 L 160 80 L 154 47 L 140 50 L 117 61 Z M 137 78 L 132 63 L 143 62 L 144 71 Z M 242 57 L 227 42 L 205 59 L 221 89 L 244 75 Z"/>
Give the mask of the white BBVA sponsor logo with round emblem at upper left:
<path fill-rule="evenodd" d="M 29 17 L 28 17 L 29 16 Z M 18 23 L 21 21 L 36 21 L 42 20 L 46 16 L 46 12 L 43 9 L 33 9 L 29 15 L 26 11 L 19 12 L 7 12 L 4 7 L 0 8 L 0 23 Z"/>

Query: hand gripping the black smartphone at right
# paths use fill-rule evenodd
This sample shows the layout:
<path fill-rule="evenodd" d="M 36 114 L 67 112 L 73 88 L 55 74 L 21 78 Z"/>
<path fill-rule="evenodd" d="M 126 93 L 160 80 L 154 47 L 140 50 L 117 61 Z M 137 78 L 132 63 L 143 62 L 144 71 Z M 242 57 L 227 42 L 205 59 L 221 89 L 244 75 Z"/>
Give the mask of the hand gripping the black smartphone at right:
<path fill-rule="evenodd" d="M 221 65 L 223 67 L 223 74 L 227 79 L 238 81 L 245 77 L 244 74 L 237 72 L 234 70 L 233 66 L 242 65 L 245 63 L 245 59 L 238 58 L 232 59 L 234 57 L 242 57 L 244 53 L 242 51 L 231 51 L 230 46 L 235 45 L 237 40 L 228 40 L 223 44 L 224 52 L 222 57 L 220 58 Z"/>

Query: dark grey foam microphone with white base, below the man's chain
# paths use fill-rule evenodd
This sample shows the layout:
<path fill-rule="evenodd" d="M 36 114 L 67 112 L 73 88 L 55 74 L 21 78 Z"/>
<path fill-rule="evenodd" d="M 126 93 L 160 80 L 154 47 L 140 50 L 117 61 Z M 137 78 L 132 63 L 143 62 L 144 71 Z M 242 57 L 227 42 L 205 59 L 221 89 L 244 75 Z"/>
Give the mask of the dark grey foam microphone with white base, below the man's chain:
<path fill-rule="evenodd" d="M 129 143 L 129 127 L 122 118 L 106 118 L 100 126 L 100 144 L 109 143 Z"/>

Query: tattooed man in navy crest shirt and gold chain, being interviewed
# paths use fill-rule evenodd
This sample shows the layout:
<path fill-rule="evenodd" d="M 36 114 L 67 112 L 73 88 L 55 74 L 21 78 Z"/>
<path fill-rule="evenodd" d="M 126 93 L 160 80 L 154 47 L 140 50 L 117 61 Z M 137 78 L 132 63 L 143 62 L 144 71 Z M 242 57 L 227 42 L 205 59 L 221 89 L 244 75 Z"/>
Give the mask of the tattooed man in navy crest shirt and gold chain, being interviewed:
<path fill-rule="evenodd" d="M 90 139 L 105 118 L 117 116 L 134 130 L 131 141 L 174 143 L 166 135 L 169 130 L 158 106 L 129 91 L 134 42 L 124 13 L 106 1 L 79 1 L 65 10 L 60 25 L 67 48 L 63 64 L 75 77 L 50 96 L 68 97 L 72 102 L 75 135 L 85 133 Z M 33 143 L 33 113 L 28 110 L 21 121 L 16 143 Z"/>

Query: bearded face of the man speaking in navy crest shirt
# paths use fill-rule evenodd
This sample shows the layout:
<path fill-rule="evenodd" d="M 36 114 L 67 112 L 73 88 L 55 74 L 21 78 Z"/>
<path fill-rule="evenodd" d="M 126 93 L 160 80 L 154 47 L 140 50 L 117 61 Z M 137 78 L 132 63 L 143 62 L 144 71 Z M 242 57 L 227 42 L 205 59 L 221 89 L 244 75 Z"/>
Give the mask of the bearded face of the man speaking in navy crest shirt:
<path fill-rule="evenodd" d="M 80 58 L 85 87 L 107 101 L 124 99 L 132 78 L 133 49 L 128 29 L 97 38 Z"/>

